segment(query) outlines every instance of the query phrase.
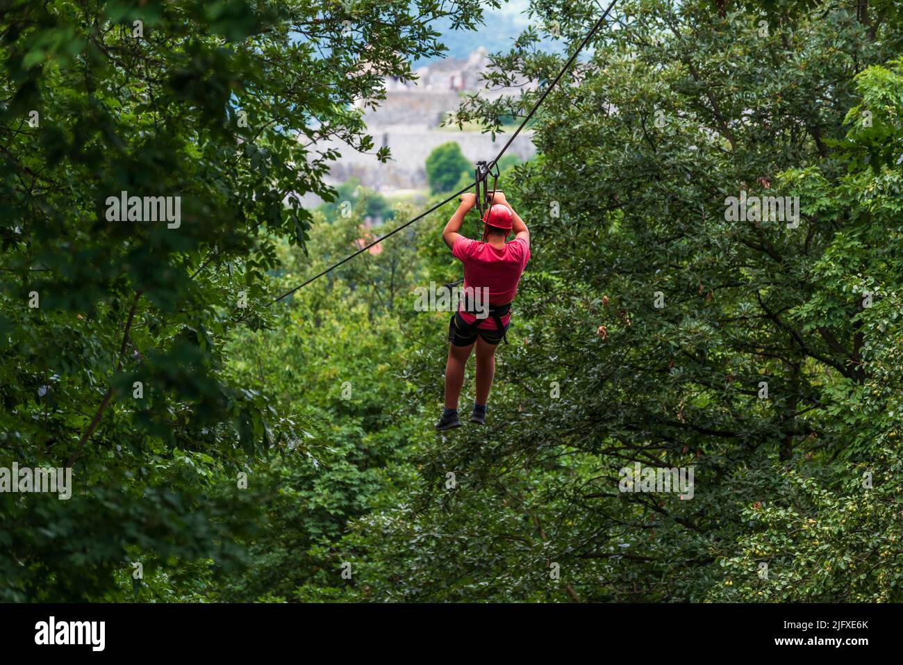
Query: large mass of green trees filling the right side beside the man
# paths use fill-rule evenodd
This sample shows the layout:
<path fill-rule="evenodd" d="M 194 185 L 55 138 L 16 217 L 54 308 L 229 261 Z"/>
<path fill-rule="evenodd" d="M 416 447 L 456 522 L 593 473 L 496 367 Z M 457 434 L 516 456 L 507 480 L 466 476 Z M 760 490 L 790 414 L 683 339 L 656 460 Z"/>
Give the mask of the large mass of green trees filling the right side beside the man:
<path fill-rule="evenodd" d="M 356 520 L 358 585 L 392 600 L 900 599 L 903 25 L 889 2 L 725 5 L 619 5 L 622 29 L 546 98 L 510 197 L 535 256 L 492 423 L 437 437 L 409 498 Z M 599 11 L 533 10 L 572 48 Z M 563 59 L 535 32 L 491 83 L 554 77 Z M 461 117 L 498 126 L 541 89 Z M 726 214 L 741 192 L 798 196 L 798 219 Z M 411 362 L 438 402 L 441 354 Z M 620 492 L 635 463 L 692 467 L 694 497 Z"/>

